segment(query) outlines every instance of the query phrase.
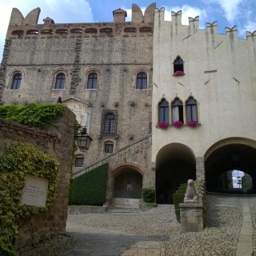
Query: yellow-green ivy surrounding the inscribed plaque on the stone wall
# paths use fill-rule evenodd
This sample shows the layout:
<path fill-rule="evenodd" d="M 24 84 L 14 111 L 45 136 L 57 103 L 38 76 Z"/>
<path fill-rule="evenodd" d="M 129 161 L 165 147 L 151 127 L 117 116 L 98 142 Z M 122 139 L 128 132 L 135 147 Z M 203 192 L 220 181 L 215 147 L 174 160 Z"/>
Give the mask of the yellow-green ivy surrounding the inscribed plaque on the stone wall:
<path fill-rule="evenodd" d="M 34 146 L 18 142 L 6 147 L 0 155 L 0 255 L 17 255 L 14 243 L 18 224 L 31 214 L 46 211 L 56 198 L 58 161 Z M 48 180 L 46 207 L 22 206 L 26 175 Z"/>

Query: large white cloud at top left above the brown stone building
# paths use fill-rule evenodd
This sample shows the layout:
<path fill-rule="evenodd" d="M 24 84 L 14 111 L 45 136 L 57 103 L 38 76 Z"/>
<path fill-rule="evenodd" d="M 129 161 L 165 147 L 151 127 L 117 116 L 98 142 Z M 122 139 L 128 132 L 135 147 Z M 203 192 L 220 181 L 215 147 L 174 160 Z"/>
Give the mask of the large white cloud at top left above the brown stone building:
<path fill-rule="evenodd" d="M 0 1 L 0 59 L 2 57 L 3 45 L 6 38 L 7 27 L 10 21 L 12 8 L 18 8 L 22 15 L 34 8 L 40 7 L 41 14 L 38 23 L 49 16 L 55 23 L 93 22 L 93 14 L 89 2 L 85 0 L 1 0 Z"/>

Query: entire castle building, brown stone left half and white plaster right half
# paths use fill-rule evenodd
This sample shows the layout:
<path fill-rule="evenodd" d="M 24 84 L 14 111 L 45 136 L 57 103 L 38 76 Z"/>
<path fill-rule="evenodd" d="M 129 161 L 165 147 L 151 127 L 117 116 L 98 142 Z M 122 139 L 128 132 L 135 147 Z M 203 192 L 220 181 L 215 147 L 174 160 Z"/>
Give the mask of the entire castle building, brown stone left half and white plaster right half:
<path fill-rule="evenodd" d="M 165 21 L 155 3 L 144 14 L 133 4 L 131 22 L 122 9 L 98 23 L 38 24 L 39 13 L 12 11 L 0 101 L 61 98 L 94 138 L 74 173 L 110 162 L 106 202 L 135 206 L 152 187 L 170 203 L 188 178 L 226 189 L 220 174 L 234 169 L 255 186 L 255 31 L 201 30 L 198 17 L 182 25 L 181 11 Z"/>

